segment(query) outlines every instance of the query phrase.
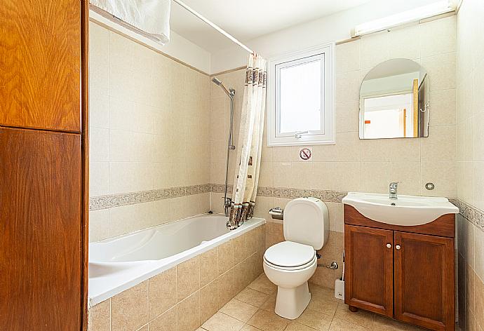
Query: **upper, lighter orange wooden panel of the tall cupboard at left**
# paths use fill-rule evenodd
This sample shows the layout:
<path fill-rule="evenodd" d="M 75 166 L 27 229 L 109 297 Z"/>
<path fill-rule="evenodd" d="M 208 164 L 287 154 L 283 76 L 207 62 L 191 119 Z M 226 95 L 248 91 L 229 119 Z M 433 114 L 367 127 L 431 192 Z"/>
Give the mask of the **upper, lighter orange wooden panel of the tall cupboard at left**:
<path fill-rule="evenodd" d="M 3 0 L 0 125 L 81 130 L 81 1 Z"/>

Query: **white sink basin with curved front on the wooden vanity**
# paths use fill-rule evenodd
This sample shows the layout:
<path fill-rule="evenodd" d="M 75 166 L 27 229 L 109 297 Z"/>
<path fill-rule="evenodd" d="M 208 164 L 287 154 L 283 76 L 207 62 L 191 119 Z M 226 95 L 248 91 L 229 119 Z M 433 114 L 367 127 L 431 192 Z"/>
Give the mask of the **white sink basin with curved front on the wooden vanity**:
<path fill-rule="evenodd" d="M 388 194 L 349 192 L 342 202 L 375 221 L 407 227 L 430 223 L 445 214 L 459 213 L 459 208 L 448 198 L 398 196 L 398 199 L 391 199 Z"/>

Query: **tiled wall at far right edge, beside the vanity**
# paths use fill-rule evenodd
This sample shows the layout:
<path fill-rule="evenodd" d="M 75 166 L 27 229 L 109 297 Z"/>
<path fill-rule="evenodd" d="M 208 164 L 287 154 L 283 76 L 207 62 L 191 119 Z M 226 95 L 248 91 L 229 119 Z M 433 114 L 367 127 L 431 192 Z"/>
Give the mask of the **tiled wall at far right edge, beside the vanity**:
<path fill-rule="evenodd" d="M 457 15 L 457 196 L 484 210 L 484 4 L 464 0 Z M 479 212 L 481 210 L 481 212 Z M 484 217 L 458 219 L 459 325 L 484 330 Z"/>

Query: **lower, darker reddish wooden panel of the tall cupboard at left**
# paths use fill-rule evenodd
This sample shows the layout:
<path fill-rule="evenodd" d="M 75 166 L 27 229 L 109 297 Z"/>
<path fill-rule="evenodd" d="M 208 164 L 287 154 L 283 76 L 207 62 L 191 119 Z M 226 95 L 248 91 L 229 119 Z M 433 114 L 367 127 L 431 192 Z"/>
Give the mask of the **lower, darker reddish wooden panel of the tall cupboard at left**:
<path fill-rule="evenodd" d="M 80 139 L 0 128 L 0 330 L 81 328 Z"/>

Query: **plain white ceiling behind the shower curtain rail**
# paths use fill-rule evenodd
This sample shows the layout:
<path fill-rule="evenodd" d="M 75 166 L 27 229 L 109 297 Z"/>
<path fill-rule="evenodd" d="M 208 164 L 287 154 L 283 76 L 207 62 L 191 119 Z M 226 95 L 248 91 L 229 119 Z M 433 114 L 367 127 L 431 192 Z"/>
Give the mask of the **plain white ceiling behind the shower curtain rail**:
<path fill-rule="evenodd" d="M 371 0 L 184 0 L 184 3 L 240 41 L 360 6 Z M 173 31 L 213 52 L 233 45 L 215 29 L 172 1 Z"/>

